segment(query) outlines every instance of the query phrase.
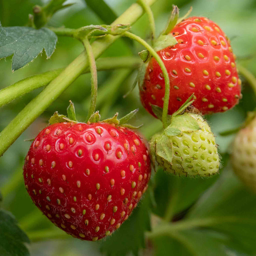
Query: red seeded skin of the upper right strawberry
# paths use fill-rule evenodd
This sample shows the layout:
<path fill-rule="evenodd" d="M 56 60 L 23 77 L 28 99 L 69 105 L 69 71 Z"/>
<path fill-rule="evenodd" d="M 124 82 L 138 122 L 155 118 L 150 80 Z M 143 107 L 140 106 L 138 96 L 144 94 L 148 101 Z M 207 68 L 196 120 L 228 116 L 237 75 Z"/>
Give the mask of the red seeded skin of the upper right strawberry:
<path fill-rule="evenodd" d="M 205 26 L 211 31 L 205 29 Z M 197 28 L 198 31 L 191 31 L 192 28 Z M 176 25 L 171 33 L 178 44 L 157 52 L 170 78 L 169 114 L 177 111 L 193 93 L 196 96 L 193 105 L 203 114 L 224 112 L 238 104 L 241 97 L 241 80 L 238 78 L 230 42 L 219 26 L 204 17 L 190 17 Z M 203 45 L 200 45 L 202 42 L 198 40 L 201 40 Z M 216 45 L 211 43 L 212 40 L 216 41 Z M 221 40 L 224 42 L 221 43 Z M 203 58 L 198 56 L 199 53 Z M 186 55 L 190 60 L 185 58 Z M 227 56 L 226 60 L 224 55 Z M 214 56 L 219 60 L 214 60 Z M 185 71 L 185 68 L 190 69 L 190 72 Z M 203 74 L 203 70 L 207 70 L 208 75 Z M 218 77 L 216 72 L 221 76 Z M 190 82 L 194 83 L 195 87 L 191 87 Z M 155 116 L 150 105 L 162 108 L 162 98 L 165 94 L 165 81 L 155 58 L 148 63 L 144 85 L 140 89 L 144 108 Z"/>

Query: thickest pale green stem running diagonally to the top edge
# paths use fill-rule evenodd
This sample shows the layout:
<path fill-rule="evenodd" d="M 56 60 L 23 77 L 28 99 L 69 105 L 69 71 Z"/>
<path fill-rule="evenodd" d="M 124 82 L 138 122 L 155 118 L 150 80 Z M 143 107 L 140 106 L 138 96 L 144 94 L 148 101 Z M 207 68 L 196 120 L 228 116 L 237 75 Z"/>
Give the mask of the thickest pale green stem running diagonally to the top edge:
<path fill-rule="evenodd" d="M 153 4 L 157 0 L 146 0 L 148 4 Z M 134 3 L 112 25 L 133 24 L 143 14 L 143 8 Z M 95 58 L 99 56 L 120 36 L 106 35 L 95 40 L 91 47 Z M 44 90 L 6 126 L 0 133 L 0 156 L 12 145 L 12 143 L 22 134 L 24 130 L 39 116 L 49 105 L 55 101 L 68 86 L 88 68 L 87 55 L 82 52 L 70 65 L 63 70 Z M 168 77 L 169 79 L 169 77 Z M 169 92 L 170 93 L 170 92 Z M 169 97 L 168 97 L 169 99 Z"/>

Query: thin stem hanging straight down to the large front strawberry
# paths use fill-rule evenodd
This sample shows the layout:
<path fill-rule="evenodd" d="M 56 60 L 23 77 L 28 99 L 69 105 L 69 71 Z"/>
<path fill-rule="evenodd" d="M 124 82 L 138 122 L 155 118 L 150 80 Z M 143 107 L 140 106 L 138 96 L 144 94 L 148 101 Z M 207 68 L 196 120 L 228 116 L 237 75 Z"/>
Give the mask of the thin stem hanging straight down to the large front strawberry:
<path fill-rule="evenodd" d="M 96 62 L 95 58 L 93 55 L 93 50 L 91 48 L 90 42 L 88 38 L 86 37 L 83 40 L 83 44 L 88 56 L 89 60 L 89 67 L 90 67 L 90 72 L 91 72 L 91 104 L 90 108 L 88 111 L 88 115 L 86 118 L 86 122 L 89 120 L 90 116 L 94 113 L 96 109 L 96 101 L 97 101 L 97 91 L 98 91 L 98 78 L 97 78 L 97 67 L 96 67 Z"/>

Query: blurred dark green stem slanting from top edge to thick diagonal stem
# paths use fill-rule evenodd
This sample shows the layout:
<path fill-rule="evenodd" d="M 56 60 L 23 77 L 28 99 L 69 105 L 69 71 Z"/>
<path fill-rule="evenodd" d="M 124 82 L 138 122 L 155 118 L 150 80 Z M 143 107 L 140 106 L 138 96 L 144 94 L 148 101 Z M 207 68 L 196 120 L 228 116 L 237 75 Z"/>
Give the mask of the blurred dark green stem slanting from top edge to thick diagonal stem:
<path fill-rule="evenodd" d="M 87 6 L 93 10 L 106 24 L 111 24 L 117 15 L 103 0 L 85 0 Z"/>

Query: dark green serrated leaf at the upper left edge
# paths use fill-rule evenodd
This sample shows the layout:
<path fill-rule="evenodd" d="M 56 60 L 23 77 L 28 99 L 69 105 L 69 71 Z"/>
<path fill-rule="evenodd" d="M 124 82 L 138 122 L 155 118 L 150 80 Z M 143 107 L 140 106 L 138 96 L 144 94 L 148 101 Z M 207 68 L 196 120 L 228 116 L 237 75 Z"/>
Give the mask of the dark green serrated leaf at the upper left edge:
<path fill-rule="evenodd" d="M 47 28 L 5 27 L 0 24 L 0 58 L 13 54 L 12 70 L 24 67 L 45 49 L 47 58 L 54 52 L 57 36 Z"/>

